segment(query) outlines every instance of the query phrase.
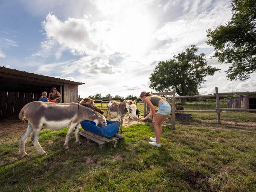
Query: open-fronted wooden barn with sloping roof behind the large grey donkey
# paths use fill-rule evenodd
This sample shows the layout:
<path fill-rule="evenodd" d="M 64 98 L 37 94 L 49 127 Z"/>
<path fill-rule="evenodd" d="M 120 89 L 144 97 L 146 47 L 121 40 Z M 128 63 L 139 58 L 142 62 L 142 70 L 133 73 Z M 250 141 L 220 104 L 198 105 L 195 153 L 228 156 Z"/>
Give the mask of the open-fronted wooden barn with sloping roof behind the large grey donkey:
<path fill-rule="evenodd" d="M 62 102 L 77 102 L 78 86 L 84 83 L 0 67 L 0 115 L 17 115 L 21 108 L 38 101 L 43 91 L 57 87 Z"/>

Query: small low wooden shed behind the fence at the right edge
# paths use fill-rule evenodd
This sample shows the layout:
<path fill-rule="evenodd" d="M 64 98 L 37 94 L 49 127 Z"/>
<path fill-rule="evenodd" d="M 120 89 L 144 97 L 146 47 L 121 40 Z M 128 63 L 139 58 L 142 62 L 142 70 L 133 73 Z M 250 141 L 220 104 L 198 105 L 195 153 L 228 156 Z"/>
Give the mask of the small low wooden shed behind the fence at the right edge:
<path fill-rule="evenodd" d="M 256 109 L 256 95 L 242 95 L 225 99 L 227 100 L 227 108 Z"/>

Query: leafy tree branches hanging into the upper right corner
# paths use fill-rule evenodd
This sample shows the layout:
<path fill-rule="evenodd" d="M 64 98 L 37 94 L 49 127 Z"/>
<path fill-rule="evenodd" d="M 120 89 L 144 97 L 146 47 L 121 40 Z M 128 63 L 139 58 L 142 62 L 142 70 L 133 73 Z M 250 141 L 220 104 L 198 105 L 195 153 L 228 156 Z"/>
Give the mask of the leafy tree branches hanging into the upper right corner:
<path fill-rule="evenodd" d="M 207 44 L 213 57 L 231 63 L 226 71 L 230 80 L 246 80 L 256 72 L 256 0 L 232 0 L 232 18 L 226 25 L 207 30 Z"/>

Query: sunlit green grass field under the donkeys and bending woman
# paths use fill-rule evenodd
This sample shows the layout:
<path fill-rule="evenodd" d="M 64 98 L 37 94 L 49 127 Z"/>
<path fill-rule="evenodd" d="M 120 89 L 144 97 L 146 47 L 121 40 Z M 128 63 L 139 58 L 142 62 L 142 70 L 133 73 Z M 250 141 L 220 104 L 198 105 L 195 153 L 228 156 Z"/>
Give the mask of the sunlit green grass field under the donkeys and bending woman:
<path fill-rule="evenodd" d="M 214 107 L 210 105 L 188 103 L 184 108 Z M 143 111 L 143 105 L 138 108 Z M 43 157 L 36 153 L 31 136 L 26 142 L 29 157 L 20 158 L 20 135 L 1 135 L 0 191 L 256 191 L 255 129 L 241 131 L 235 124 L 231 130 L 211 123 L 215 113 L 202 115 L 178 121 L 176 130 L 163 127 L 160 148 L 148 144 L 154 127 L 140 123 L 123 127 L 125 138 L 116 148 L 108 143 L 102 150 L 81 137 L 83 144 L 77 146 L 74 135 L 70 149 L 64 150 L 67 128 L 43 129 L 39 135 L 47 152 Z M 256 118 L 253 113 L 236 116 L 221 113 L 223 121 Z M 205 128 L 212 124 L 218 129 Z"/>

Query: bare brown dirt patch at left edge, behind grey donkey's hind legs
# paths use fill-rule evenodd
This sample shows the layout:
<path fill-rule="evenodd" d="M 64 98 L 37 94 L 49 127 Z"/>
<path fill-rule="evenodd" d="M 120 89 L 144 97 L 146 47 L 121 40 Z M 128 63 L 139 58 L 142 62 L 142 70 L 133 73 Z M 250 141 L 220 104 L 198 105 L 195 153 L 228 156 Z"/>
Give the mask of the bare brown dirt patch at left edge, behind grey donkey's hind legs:
<path fill-rule="evenodd" d="M 0 136 L 21 135 L 28 127 L 18 117 L 5 117 L 0 119 Z"/>

